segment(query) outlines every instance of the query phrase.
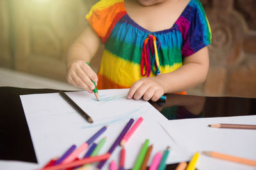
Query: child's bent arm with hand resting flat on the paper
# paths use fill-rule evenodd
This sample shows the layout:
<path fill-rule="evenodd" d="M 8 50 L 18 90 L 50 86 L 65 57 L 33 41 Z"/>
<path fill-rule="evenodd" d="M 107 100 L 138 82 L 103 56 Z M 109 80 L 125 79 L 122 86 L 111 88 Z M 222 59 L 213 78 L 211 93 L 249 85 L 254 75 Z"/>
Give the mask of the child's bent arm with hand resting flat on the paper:
<path fill-rule="evenodd" d="M 205 81 L 209 69 L 207 47 L 184 58 L 183 65 L 170 73 L 144 77 L 132 84 L 127 98 L 157 101 L 164 93 L 179 93 Z"/>

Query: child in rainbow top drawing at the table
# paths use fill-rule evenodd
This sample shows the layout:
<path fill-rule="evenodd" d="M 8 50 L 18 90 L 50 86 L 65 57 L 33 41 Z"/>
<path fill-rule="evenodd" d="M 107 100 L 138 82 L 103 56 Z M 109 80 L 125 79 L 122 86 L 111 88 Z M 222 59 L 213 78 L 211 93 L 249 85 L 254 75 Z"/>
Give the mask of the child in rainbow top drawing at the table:
<path fill-rule="evenodd" d="M 198 0 L 101 0 L 67 54 L 67 81 L 92 93 L 130 88 L 127 98 L 158 100 L 205 81 L 211 29 Z M 98 75 L 86 62 L 104 53 Z"/>

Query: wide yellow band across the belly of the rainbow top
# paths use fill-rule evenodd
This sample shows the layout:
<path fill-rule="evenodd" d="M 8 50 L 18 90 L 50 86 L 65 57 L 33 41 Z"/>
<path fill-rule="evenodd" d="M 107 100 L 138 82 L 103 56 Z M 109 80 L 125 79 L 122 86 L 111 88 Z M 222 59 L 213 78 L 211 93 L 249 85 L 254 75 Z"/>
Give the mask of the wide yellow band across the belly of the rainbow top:
<path fill-rule="evenodd" d="M 177 70 L 182 63 L 175 63 L 173 66 L 160 66 L 161 73 L 169 73 Z M 135 81 L 141 79 L 140 64 L 118 58 L 108 50 L 104 50 L 100 63 L 99 73 L 110 81 L 120 86 L 131 87 Z M 153 72 L 150 77 L 154 77 Z"/>

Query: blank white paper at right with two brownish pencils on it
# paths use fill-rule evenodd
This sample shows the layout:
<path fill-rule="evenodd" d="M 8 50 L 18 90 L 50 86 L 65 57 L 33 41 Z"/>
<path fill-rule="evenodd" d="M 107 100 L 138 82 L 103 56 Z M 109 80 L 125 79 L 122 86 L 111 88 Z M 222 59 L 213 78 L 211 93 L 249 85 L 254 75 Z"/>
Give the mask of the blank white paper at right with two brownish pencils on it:
<path fill-rule="evenodd" d="M 216 151 L 256 160 L 256 130 L 208 127 L 208 125 L 218 123 L 255 125 L 256 116 L 170 120 L 163 126 L 175 143 L 188 153 L 185 161 L 189 161 L 196 151 Z M 202 154 L 196 168 L 209 170 L 255 169 L 252 166 L 210 158 Z"/>

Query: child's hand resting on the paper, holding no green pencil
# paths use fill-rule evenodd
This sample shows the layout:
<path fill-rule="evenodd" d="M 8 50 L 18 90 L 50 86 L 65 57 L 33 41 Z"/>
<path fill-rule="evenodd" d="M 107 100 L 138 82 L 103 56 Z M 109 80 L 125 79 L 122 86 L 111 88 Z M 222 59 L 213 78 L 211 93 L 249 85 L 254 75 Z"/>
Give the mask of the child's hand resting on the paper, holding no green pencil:
<path fill-rule="evenodd" d="M 164 86 L 157 79 L 157 77 L 144 77 L 139 81 L 132 84 L 127 98 L 134 98 L 139 100 L 143 97 L 143 100 L 152 100 L 156 102 L 164 94 Z"/>

